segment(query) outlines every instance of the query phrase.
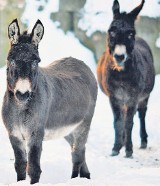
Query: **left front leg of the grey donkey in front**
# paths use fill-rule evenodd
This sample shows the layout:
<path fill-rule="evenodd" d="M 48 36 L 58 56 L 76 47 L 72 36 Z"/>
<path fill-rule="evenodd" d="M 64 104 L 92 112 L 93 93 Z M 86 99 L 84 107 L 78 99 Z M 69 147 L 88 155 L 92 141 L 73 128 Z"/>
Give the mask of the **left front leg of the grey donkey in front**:
<path fill-rule="evenodd" d="M 9 136 L 15 155 L 15 170 L 17 172 L 17 181 L 26 179 L 27 155 L 23 139 L 15 136 Z"/>

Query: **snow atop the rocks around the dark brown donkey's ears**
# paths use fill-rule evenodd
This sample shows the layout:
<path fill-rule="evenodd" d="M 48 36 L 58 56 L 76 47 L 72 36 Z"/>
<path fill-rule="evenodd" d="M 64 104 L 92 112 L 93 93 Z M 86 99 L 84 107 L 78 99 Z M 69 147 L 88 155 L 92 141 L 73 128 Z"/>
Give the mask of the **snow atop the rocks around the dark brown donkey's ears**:
<path fill-rule="evenodd" d="M 120 11 L 130 12 L 133 8 L 139 5 L 141 0 L 119 0 Z M 159 0 L 147 0 L 140 12 L 142 16 L 158 17 L 160 16 Z M 86 31 L 88 36 L 91 36 L 95 31 L 106 32 L 113 19 L 112 15 L 113 0 L 87 0 L 83 16 L 79 21 L 79 28 Z"/>

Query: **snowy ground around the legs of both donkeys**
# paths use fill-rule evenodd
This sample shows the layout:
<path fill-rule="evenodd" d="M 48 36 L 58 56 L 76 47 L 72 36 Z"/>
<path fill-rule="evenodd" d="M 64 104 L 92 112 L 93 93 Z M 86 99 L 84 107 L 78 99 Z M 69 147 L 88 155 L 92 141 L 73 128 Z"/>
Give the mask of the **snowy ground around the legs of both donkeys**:
<path fill-rule="evenodd" d="M 5 70 L 0 70 L 1 82 L 5 82 Z M 124 158 L 124 149 L 117 157 L 111 157 L 114 139 L 113 117 L 108 98 L 99 90 L 92 126 L 86 145 L 86 158 L 91 172 L 91 180 L 71 176 L 70 147 L 63 139 L 45 141 L 41 157 L 42 174 L 38 186 L 154 186 L 160 182 L 160 75 L 151 94 L 147 113 L 149 144 L 146 150 L 139 149 L 139 121 L 134 119 L 133 159 Z M 4 90 L 4 86 L 1 90 Z M 1 95 L 2 99 L 2 95 Z M 1 122 L 2 124 L 2 122 Z M 6 129 L 0 125 L 0 181 L 1 185 L 28 186 L 27 181 L 16 183 L 14 155 Z"/>

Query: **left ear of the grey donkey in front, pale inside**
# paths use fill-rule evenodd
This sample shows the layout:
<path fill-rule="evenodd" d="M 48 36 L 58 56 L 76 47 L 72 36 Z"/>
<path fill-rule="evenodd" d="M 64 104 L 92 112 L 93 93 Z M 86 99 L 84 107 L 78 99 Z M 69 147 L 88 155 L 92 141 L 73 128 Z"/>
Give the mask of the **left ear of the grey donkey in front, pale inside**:
<path fill-rule="evenodd" d="M 18 43 L 19 36 L 20 36 L 20 29 L 18 26 L 18 20 L 14 19 L 8 26 L 8 37 L 12 45 Z"/>

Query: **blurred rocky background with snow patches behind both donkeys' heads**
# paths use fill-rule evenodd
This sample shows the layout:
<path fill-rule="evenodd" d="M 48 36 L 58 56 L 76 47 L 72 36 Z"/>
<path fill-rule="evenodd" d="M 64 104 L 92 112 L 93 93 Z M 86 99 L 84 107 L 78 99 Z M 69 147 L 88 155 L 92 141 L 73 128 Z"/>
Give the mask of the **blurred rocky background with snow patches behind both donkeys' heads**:
<path fill-rule="evenodd" d="M 140 2 L 119 0 L 121 11 L 127 12 Z M 10 47 L 8 25 L 15 18 L 18 18 L 21 30 L 33 27 L 37 18 L 45 24 L 50 19 L 57 29 L 65 35 L 72 33 L 91 50 L 97 63 L 105 50 L 106 32 L 112 21 L 112 4 L 113 0 L 0 0 L 0 67 L 5 65 Z M 49 28 L 45 25 L 45 30 Z M 160 73 L 160 0 L 146 0 L 136 28 L 137 35 L 146 39 L 152 48 L 156 73 Z M 61 45 L 61 50 L 65 50 L 63 43 L 55 43 L 54 38 L 51 43 Z M 51 45 L 46 45 L 46 55 L 47 47 Z"/>

